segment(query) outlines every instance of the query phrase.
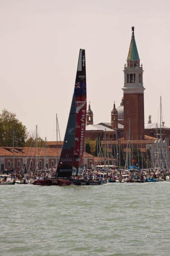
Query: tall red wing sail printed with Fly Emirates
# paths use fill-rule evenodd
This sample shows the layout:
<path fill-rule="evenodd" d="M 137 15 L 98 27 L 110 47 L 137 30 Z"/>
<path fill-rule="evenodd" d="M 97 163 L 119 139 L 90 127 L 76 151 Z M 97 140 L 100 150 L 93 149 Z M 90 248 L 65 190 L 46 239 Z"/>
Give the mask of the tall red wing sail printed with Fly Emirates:
<path fill-rule="evenodd" d="M 76 134 L 74 146 L 73 175 L 80 175 L 82 168 L 83 152 L 85 148 L 85 124 L 86 124 L 86 72 L 85 50 L 80 49 L 77 76 L 74 87 L 76 99 Z"/>

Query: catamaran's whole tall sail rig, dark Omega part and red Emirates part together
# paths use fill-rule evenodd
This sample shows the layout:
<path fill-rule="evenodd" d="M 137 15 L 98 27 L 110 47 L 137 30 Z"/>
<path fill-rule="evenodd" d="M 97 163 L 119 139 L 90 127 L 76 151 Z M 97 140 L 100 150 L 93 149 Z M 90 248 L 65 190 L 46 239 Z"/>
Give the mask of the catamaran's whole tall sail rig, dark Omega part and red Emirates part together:
<path fill-rule="evenodd" d="M 74 94 L 56 177 L 71 177 L 73 169 L 76 175 L 81 170 L 85 146 L 86 108 L 85 50 L 80 49 Z"/>

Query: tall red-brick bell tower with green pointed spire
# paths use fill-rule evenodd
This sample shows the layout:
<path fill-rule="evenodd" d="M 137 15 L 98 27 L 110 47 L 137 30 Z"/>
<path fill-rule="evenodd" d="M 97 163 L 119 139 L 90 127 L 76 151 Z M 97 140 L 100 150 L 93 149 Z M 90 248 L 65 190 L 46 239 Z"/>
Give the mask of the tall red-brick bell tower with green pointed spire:
<path fill-rule="evenodd" d="M 136 47 L 134 27 L 124 67 L 124 138 L 125 140 L 144 140 L 144 90 L 143 67 Z"/>

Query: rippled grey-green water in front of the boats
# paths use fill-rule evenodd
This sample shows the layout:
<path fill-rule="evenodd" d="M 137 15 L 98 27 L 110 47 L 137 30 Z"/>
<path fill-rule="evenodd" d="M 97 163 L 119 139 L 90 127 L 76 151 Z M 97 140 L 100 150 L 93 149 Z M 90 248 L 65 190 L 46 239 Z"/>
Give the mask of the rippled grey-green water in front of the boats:
<path fill-rule="evenodd" d="M 170 182 L 0 186 L 1 256 L 169 256 Z"/>

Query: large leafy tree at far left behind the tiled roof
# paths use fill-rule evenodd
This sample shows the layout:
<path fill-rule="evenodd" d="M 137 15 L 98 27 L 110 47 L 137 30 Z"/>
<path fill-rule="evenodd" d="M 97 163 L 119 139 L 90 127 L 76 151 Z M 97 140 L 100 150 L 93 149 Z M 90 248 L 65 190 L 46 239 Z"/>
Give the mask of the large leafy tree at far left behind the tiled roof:
<path fill-rule="evenodd" d="M 0 146 L 12 147 L 14 125 L 14 146 L 23 147 L 26 140 L 26 126 L 17 118 L 16 114 L 4 108 L 0 114 Z"/>

